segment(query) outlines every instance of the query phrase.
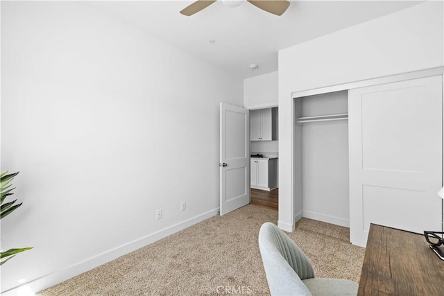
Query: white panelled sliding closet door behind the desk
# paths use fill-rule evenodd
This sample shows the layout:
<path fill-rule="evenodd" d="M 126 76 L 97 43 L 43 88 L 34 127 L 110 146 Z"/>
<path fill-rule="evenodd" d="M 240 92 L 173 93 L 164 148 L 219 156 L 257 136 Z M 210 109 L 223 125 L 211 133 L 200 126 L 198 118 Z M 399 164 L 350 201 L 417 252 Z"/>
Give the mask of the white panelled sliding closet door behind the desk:
<path fill-rule="evenodd" d="M 370 223 L 440 231 L 442 76 L 349 91 L 350 241 Z"/>

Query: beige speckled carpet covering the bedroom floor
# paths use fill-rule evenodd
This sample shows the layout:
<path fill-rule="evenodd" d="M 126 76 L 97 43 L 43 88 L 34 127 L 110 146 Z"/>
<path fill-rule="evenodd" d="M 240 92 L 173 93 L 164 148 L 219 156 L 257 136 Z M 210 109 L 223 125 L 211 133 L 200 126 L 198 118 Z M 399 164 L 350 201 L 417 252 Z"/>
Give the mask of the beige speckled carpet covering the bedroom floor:
<path fill-rule="evenodd" d="M 40 295 L 269 295 L 257 234 L 262 223 L 277 220 L 277 211 L 249 204 Z M 348 228 L 302 218 L 289 235 L 311 260 L 316 277 L 359 281 L 365 249 L 348 243 Z"/>

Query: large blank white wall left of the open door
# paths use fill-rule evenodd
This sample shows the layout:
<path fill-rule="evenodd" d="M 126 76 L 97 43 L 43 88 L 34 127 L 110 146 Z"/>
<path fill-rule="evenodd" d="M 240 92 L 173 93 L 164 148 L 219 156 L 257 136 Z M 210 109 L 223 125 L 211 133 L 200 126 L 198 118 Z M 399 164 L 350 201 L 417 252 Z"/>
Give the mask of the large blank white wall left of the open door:
<path fill-rule="evenodd" d="M 20 171 L 24 202 L 1 243 L 34 247 L 2 266 L 3 291 L 216 214 L 219 102 L 243 105 L 240 78 L 74 2 L 2 2 L 1 62 L 1 171 Z"/>

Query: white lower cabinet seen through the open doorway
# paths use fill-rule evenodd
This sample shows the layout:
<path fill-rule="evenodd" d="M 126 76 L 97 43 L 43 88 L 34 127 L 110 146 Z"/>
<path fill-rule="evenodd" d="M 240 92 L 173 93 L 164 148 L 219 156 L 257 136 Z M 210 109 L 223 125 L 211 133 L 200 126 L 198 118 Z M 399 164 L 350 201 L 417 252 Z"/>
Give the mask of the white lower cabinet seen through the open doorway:
<path fill-rule="evenodd" d="M 278 188 L 278 159 L 250 160 L 251 188 L 271 191 Z"/>

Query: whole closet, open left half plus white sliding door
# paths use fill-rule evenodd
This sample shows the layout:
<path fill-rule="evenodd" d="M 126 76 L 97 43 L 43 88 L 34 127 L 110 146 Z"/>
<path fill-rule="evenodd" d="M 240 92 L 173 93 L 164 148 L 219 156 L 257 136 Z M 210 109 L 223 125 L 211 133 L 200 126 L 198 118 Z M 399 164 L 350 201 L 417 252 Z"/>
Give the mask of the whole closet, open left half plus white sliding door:
<path fill-rule="evenodd" d="M 370 223 L 441 229 L 442 69 L 299 92 L 293 106 L 293 221 L 350 227 L 362 247 Z"/>

